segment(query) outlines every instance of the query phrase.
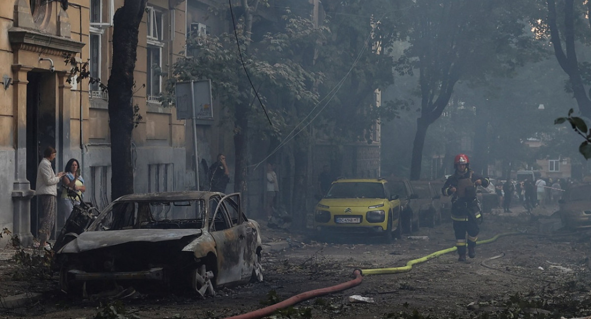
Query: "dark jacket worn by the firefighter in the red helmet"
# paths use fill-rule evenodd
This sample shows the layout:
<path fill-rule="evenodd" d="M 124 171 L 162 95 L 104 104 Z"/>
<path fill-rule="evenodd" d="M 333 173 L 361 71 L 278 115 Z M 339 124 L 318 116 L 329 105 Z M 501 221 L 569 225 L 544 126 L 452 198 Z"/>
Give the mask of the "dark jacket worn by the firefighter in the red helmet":
<path fill-rule="evenodd" d="M 447 178 L 447 181 L 441 188 L 441 194 L 452 197 L 452 220 L 467 222 L 472 219 L 480 218 L 480 205 L 476 199 L 477 180 L 482 181 L 482 187 L 490 184 L 488 178 L 476 174 L 470 168 L 465 172 L 457 172 Z M 452 192 L 452 187 L 456 188 Z"/>

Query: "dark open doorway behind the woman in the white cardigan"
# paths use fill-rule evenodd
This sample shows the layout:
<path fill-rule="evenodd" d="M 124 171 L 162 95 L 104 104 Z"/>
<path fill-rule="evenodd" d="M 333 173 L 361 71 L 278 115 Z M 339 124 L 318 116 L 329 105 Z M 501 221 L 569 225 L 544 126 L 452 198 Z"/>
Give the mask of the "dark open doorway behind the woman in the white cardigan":
<path fill-rule="evenodd" d="M 55 77 L 49 73 L 27 74 L 27 180 L 36 188 L 37 167 L 48 146 L 56 148 Z M 55 162 L 52 163 L 55 168 Z M 31 233 L 37 237 L 40 223 L 37 197 L 31 199 Z"/>

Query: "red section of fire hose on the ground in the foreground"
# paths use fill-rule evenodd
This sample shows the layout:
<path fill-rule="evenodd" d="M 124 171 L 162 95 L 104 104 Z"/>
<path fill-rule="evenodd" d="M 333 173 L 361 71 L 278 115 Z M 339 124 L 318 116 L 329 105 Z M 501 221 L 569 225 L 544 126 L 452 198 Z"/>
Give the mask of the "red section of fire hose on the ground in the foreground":
<path fill-rule="evenodd" d="M 278 302 L 277 304 L 270 305 L 269 307 L 255 310 L 255 311 L 252 311 L 251 313 L 235 315 L 233 317 L 228 317 L 226 319 L 262 318 L 262 317 L 265 317 L 267 315 L 274 313 L 277 310 L 289 307 L 291 305 L 298 304 L 302 301 L 309 300 L 310 298 L 321 297 L 324 295 L 332 294 L 333 292 L 353 288 L 353 287 L 361 284 L 361 281 L 363 280 L 363 276 L 361 275 L 361 270 L 359 270 L 359 269 L 355 269 L 355 271 L 353 271 L 353 276 L 355 276 L 355 279 L 350 280 L 348 282 L 343 282 L 342 284 L 332 286 L 332 287 L 326 287 L 326 288 L 320 288 L 320 289 L 316 289 L 316 290 L 302 292 L 301 294 L 295 295 L 294 297 L 291 297 L 287 300 Z"/>

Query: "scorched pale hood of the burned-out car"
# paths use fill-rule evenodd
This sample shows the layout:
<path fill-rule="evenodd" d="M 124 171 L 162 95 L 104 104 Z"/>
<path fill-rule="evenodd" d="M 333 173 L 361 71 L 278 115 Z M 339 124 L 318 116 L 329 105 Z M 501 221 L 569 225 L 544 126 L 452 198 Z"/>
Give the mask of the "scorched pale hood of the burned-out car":
<path fill-rule="evenodd" d="M 59 253 L 79 253 L 131 242 L 165 242 L 186 236 L 198 237 L 201 229 L 125 229 L 84 232 L 67 243 Z"/>

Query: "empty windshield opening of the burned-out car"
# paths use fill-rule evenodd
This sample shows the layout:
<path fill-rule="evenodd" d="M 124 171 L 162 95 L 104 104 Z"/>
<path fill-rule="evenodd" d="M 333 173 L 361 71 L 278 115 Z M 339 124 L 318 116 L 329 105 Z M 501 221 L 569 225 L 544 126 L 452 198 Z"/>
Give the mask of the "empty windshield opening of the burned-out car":
<path fill-rule="evenodd" d="M 120 201 L 101 214 L 104 229 L 143 228 L 147 223 L 168 220 L 201 220 L 203 200 Z"/>

